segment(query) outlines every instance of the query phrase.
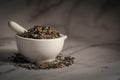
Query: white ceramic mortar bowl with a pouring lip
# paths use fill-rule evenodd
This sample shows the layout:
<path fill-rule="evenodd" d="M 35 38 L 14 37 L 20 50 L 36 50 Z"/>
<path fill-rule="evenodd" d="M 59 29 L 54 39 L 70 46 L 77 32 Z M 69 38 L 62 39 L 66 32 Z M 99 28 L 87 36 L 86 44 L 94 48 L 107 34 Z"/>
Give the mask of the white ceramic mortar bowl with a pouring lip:
<path fill-rule="evenodd" d="M 32 62 L 42 63 L 55 60 L 61 52 L 67 36 L 56 39 L 30 39 L 16 35 L 17 47 Z"/>

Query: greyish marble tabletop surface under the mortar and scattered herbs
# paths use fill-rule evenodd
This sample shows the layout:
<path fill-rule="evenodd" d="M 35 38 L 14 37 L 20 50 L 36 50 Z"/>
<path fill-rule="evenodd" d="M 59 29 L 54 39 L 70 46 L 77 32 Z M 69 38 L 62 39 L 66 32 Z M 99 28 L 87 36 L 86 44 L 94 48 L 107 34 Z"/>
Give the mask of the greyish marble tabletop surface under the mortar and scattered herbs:
<path fill-rule="evenodd" d="M 50 70 L 15 67 L 8 57 L 17 51 L 13 38 L 0 39 L 1 80 L 120 80 L 119 41 L 95 43 L 67 39 L 62 54 L 75 57 L 72 66 Z"/>

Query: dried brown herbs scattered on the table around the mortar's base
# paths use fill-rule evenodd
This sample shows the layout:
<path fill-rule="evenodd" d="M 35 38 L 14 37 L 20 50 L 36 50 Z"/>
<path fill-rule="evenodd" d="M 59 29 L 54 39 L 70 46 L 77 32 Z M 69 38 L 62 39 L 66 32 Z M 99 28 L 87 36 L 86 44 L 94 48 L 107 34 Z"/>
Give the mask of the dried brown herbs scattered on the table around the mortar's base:
<path fill-rule="evenodd" d="M 71 56 L 63 56 L 58 55 L 56 57 L 56 60 L 52 62 L 44 62 L 42 64 L 36 64 L 29 62 L 22 54 L 15 53 L 14 56 L 9 58 L 10 61 L 15 63 L 15 66 L 22 67 L 26 69 L 34 69 L 34 70 L 40 70 L 40 69 L 56 69 L 56 68 L 62 68 L 62 67 L 69 67 L 74 63 L 74 57 Z"/>

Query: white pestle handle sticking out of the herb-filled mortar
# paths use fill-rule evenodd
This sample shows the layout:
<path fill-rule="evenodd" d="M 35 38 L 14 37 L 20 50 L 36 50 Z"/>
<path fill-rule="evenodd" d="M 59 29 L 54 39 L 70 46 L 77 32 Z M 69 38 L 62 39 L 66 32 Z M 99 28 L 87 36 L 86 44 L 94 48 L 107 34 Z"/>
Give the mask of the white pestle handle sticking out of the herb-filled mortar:
<path fill-rule="evenodd" d="M 8 26 L 18 34 L 22 34 L 25 31 L 27 32 L 27 29 L 25 29 L 24 27 L 22 27 L 21 25 L 19 25 L 18 23 L 14 21 L 8 22 Z"/>

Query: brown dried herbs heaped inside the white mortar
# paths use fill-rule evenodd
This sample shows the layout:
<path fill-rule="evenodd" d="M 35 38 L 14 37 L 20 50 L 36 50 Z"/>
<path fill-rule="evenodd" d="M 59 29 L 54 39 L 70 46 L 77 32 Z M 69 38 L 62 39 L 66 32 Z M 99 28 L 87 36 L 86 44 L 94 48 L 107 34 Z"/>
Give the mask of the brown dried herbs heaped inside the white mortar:
<path fill-rule="evenodd" d="M 25 38 L 33 38 L 33 39 L 54 39 L 59 38 L 60 34 L 56 31 L 52 26 L 40 25 L 34 26 L 29 29 L 28 32 L 24 32 L 23 34 L 18 34 Z"/>

